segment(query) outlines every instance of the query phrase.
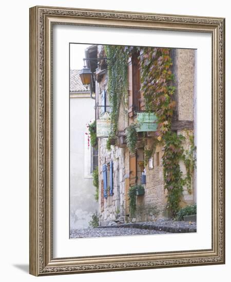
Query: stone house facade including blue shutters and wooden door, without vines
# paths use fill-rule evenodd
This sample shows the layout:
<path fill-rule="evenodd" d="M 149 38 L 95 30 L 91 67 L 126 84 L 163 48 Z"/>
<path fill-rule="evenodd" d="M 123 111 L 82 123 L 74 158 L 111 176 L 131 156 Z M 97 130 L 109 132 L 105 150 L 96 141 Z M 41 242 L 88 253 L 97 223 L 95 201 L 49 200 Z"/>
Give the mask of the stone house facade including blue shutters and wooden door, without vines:
<path fill-rule="evenodd" d="M 95 45 L 94 55 L 104 57 L 104 47 Z M 103 54 L 103 55 L 102 55 Z M 175 76 L 175 100 L 176 110 L 172 120 L 172 130 L 177 134 L 187 137 L 188 134 L 195 134 L 196 129 L 196 89 L 195 89 L 195 50 L 172 49 L 172 73 Z M 88 54 L 90 57 L 90 53 Z M 135 58 L 137 59 L 137 58 Z M 118 118 L 118 134 L 115 145 L 107 149 L 107 138 L 98 137 L 98 169 L 99 169 L 99 223 L 100 225 L 112 225 L 128 221 L 149 221 L 159 217 L 167 217 L 166 212 L 166 190 L 164 189 L 164 176 L 162 156 L 163 147 L 156 146 L 152 155 L 145 161 L 144 150 L 151 148 L 153 144 L 153 132 L 147 132 L 146 138 L 142 138 L 139 132 L 137 151 L 131 154 L 126 146 L 126 128 L 136 122 L 137 116 L 133 113 L 132 107 L 136 105 L 139 110 L 145 108 L 144 98 L 129 101 L 134 89 L 140 89 L 132 84 L 132 79 L 140 75 L 133 60 L 128 61 L 128 103 L 121 103 Z M 99 63 L 100 62 L 100 63 Z M 95 118 L 100 119 L 105 112 L 110 113 L 110 104 L 107 95 L 108 73 L 106 64 L 98 62 L 98 66 L 91 66 L 95 77 Z M 135 77 L 135 78 L 134 78 Z M 132 89 L 133 88 L 133 89 Z M 139 91 L 139 90 L 137 90 Z M 132 104 L 133 103 L 133 104 Z M 196 136 L 195 136 L 196 138 Z M 188 138 L 185 139 L 183 147 L 189 147 Z M 186 174 L 184 163 L 180 163 L 183 175 Z M 146 181 L 141 183 L 141 177 L 145 175 Z M 181 206 L 196 203 L 196 181 L 192 177 L 191 191 L 184 187 Z M 131 217 L 129 212 L 128 190 L 133 185 L 142 185 L 144 194 L 138 195 L 136 199 L 137 212 Z"/>

